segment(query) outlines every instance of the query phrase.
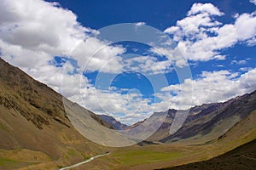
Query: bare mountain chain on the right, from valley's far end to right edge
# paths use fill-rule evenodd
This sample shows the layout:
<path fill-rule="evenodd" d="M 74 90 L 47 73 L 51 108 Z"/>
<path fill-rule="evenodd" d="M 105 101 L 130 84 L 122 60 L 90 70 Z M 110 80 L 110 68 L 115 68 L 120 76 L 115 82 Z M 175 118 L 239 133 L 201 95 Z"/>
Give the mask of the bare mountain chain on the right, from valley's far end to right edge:
<path fill-rule="evenodd" d="M 148 127 L 161 124 L 158 130 L 147 139 L 148 141 L 166 143 L 189 140 L 189 142 L 201 143 L 217 139 L 254 110 L 256 110 L 256 91 L 223 103 L 198 105 L 187 111 L 172 109 L 157 112 L 143 122 L 151 122 Z M 178 112 L 181 113 L 180 115 L 188 112 L 188 116 L 183 126 L 176 133 L 170 134 L 173 120 Z M 143 122 L 137 122 L 127 128 L 142 126 Z"/>

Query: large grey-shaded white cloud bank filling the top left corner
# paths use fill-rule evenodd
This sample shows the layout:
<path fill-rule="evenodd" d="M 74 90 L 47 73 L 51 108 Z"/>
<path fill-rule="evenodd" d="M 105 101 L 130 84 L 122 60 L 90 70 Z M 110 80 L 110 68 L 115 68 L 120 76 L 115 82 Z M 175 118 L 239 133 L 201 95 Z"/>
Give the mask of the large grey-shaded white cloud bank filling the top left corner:
<path fill-rule="evenodd" d="M 58 3 L 3 0 L 0 16 L 3 59 L 13 65 L 37 68 L 38 65 L 48 65 L 55 55 L 73 54 L 71 57 L 78 60 L 80 67 L 90 60 L 89 71 L 99 70 L 110 60 L 111 65 L 106 65 L 103 71 L 121 69 L 119 59 L 113 58 L 125 49 L 109 46 L 107 42 L 91 37 L 98 32 L 81 26 L 76 14 L 61 8 Z M 83 54 L 74 54 L 78 52 Z M 96 55 L 92 58 L 94 53 Z"/>

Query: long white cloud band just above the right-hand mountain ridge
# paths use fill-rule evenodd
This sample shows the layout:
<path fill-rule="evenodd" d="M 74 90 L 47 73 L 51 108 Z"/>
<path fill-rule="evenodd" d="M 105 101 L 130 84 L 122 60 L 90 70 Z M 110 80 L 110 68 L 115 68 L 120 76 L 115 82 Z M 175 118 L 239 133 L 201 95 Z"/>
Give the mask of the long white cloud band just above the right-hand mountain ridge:
<path fill-rule="evenodd" d="M 182 84 L 162 88 L 174 94 L 172 105 L 179 104 L 183 109 L 192 105 L 223 102 L 237 95 L 250 93 L 256 87 L 256 69 L 247 71 L 239 77 L 230 71 L 204 71 L 196 80 L 186 79 Z M 193 94 L 189 94 L 189 89 Z M 192 97 L 192 100 L 191 100 Z"/>

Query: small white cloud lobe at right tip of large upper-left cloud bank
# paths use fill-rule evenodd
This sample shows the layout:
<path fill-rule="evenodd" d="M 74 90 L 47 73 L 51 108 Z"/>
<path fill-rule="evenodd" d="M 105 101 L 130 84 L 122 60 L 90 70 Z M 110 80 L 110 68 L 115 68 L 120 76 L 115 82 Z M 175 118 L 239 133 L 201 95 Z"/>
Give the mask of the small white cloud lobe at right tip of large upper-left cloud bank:
<path fill-rule="evenodd" d="M 102 42 L 96 37 L 90 37 L 80 42 L 73 49 L 71 56 L 78 61 L 78 65 L 87 71 L 104 71 L 116 73 L 122 71 L 121 58 L 125 48 L 114 47 Z"/>

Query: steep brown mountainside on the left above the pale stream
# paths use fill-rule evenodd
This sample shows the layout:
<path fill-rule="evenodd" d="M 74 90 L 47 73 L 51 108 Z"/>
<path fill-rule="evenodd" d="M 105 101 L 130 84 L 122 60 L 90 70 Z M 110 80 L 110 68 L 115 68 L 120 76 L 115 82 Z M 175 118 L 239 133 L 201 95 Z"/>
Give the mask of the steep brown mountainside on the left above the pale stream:
<path fill-rule="evenodd" d="M 85 139 L 73 127 L 61 94 L 3 59 L 0 68 L 0 156 L 19 160 L 11 168 L 42 163 L 42 168 L 52 169 L 104 152 L 104 147 Z M 65 101 L 73 105 L 68 114 L 84 112 L 99 125 L 113 128 L 100 116 Z M 20 156 L 14 157 L 13 152 L 18 151 Z"/>

